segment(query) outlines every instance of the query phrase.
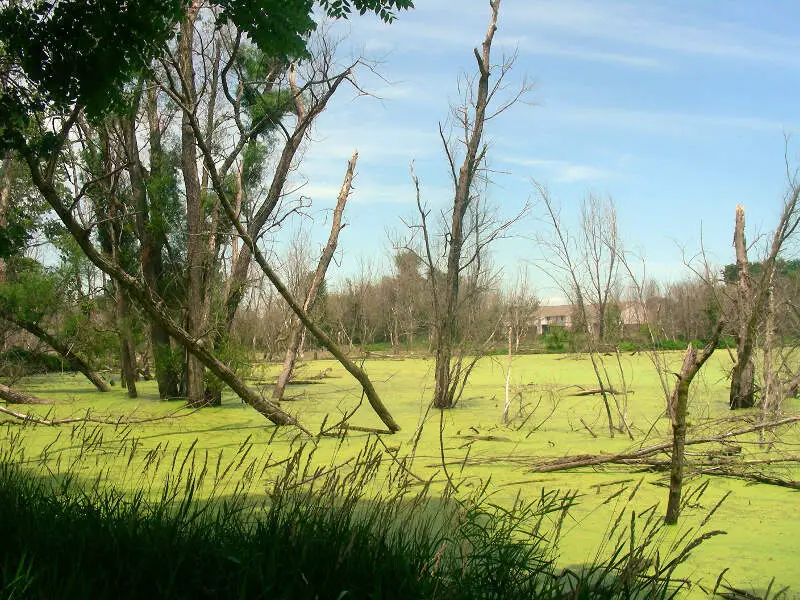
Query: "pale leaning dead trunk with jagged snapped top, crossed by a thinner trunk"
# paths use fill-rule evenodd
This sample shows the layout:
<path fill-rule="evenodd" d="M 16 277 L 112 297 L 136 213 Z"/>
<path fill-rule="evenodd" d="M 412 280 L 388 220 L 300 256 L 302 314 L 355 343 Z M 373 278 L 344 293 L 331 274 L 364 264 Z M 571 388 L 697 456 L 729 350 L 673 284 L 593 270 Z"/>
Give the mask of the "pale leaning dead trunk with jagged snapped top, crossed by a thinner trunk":
<path fill-rule="evenodd" d="M 333 222 L 331 223 L 331 233 L 328 236 L 328 243 L 322 250 L 322 255 L 319 257 L 317 270 L 314 272 L 314 279 L 311 281 L 311 287 L 306 295 L 303 310 L 310 312 L 314 307 L 317 300 L 319 288 L 325 280 L 325 274 L 328 272 L 328 267 L 333 259 L 333 254 L 336 252 L 336 245 L 339 241 L 339 232 L 342 230 L 342 213 L 344 213 L 347 198 L 350 196 L 350 190 L 353 183 L 353 173 L 358 161 L 358 152 L 354 152 L 350 161 L 347 163 L 347 171 L 342 182 L 342 187 L 339 190 L 339 198 L 336 202 L 336 208 L 333 211 Z M 297 351 L 300 348 L 303 339 L 303 324 L 300 319 L 295 317 L 293 319 L 292 331 L 289 334 L 289 347 L 286 349 L 286 357 L 283 361 L 283 369 L 278 375 L 278 381 L 275 383 L 275 388 L 272 390 L 272 399 L 280 402 L 283 394 L 286 391 L 286 385 L 292 376 L 295 362 L 297 361 Z"/>

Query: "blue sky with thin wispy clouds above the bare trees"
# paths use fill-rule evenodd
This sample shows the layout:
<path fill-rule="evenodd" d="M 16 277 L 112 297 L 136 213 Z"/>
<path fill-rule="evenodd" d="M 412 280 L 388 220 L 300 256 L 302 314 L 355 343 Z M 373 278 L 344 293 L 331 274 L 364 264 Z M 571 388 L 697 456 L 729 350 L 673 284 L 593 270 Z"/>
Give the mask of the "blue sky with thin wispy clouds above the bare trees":
<path fill-rule="evenodd" d="M 378 59 L 385 78 L 359 75 L 380 99 L 351 90 L 332 102 L 301 167 L 303 193 L 324 210 L 360 153 L 334 280 L 364 260 L 388 268 L 386 233 L 402 236 L 401 217 L 414 216 L 412 160 L 431 207 L 451 198 L 438 123 L 459 99 L 459 75 L 474 72 L 488 16 L 483 0 L 418 0 L 392 25 L 358 16 L 333 25 L 346 36 L 342 59 Z M 535 86 L 487 127 L 490 201 L 513 214 L 535 200 L 535 179 L 571 224 L 589 192 L 612 196 L 625 246 L 646 256 L 651 275 L 687 276 L 682 249 L 696 253 L 701 231 L 711 259 L 731 262 L 736 204 L 751 237 L 780 210 L 784 135 L 800 133 L 798 17 L 789 0 L 504 0 L 494 57 L 516 52 L 510 87 Z M 790 139 L 794 164 L 799 150 Z M 534 205 L 517 237 L 495 248 L 507 278 L 536 260 L 542 216 Z M 324 237 L 320 227 L 315 239 Z M 550 295 L 546 278 L 531 274 Z"/>

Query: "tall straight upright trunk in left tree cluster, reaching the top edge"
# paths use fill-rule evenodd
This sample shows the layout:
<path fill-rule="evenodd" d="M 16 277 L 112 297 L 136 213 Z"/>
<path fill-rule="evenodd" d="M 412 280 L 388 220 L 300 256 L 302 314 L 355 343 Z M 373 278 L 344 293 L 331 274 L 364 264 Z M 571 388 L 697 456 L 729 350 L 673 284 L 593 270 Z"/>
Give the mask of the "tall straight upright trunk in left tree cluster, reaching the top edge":
<path fill-rule="evenodd" d="M 187 226 L 187 292 L 186 292 L 186 331 L 199 342 L 203 342 L 204 307 L 203 275 L 205 273 L 205 215 L 201 197 L 200 178 L 197 170 L 197 144 L 192 129 L 189 110 L 195 107 L 195 74 L 193 60 L 194 21 L 197 9 L 192 6 L 181 21 L 181 37 L 178 48 L 183 101 L 186 104 L 181 115 L 181 171 L 186 193 Z M 203 406 L 205 382 L 203 363 L 197 356 L 189 355 L 186 360 L 186 395 L 190 406 Z"/>

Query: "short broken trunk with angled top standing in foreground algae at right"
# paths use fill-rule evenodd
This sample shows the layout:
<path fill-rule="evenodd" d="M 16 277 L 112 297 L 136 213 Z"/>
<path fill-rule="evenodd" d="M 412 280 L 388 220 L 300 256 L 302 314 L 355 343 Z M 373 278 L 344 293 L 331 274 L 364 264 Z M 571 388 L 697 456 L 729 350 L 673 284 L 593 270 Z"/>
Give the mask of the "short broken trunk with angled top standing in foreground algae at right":
<path fill-rule="evenodd" d="M 683 458 L 684 446 L 686 443 L 686 415 L 689 408 L 689 387 L 692 379 L 697 375 L 700 367 L 703 366 L 708 358 L 714 353 L 714 349 L 719 342 L 722 333 L 723 323 L 717 323 L 711 340 L 708 342 L 700 355 L 697 349 L 689 344 L 686 354 L 683 357 L 681 372 L 678 373 L 678 380 L 675 382 L 675 389 L 670 398 L 670 415 L 672 417 L 672 460 L 669 475 L 669 500 L 667 502 L 667 514 L 665 521 L 669 525 L 678 522 L 678 514 L 681 508 L 681 492 L 683 491 Z"/>

